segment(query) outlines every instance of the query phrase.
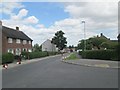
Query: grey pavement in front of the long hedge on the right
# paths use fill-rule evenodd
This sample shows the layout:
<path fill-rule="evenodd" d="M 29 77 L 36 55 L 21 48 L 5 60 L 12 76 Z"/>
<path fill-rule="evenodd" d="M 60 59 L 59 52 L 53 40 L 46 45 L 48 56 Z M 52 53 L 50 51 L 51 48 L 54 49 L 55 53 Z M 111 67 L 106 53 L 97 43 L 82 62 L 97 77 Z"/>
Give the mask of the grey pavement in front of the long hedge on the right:
<path fill-rule="evenodd" d="M 70 55 L 70 54 L 69 54 Z M 69 55 L 65 55 L 65 57 L 69 57 Z M 80 57 L 80 56 L 78 56 Z M 97 59 L 76 59 L 76 60 L 65 60 L 62 59 L 62 62 L 80 66 L 87 66 L 87 67 L 99 67 L 99 68 L 120 68 L 119 61 L 109 61 L 109 60 L 97 60 Z"/>

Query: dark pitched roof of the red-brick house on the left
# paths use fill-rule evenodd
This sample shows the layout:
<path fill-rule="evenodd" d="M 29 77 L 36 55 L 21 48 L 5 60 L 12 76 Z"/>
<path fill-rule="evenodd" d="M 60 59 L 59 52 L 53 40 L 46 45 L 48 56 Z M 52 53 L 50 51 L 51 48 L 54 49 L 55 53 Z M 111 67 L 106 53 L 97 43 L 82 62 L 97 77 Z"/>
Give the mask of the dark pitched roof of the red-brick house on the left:
<path fill-rule="evenodd" d="M 8 27 L 5 27 L 5 26 L 2 26 L 2 32 L 9 38 L 33 41 L 31 38 L 29 38 L 22 31 L 18 31 L 18 30 L 12 29 L 12 28 L 8 28 Z"/>

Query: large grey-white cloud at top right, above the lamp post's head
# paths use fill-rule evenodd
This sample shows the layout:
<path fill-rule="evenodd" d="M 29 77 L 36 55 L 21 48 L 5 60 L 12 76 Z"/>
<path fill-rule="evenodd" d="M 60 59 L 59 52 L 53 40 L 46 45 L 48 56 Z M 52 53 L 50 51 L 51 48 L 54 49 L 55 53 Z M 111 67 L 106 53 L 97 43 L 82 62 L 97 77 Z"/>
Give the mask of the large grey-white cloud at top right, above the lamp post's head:
<path fill-rule="evenodd" d="M 117 17 L 118 3 L 116 2 L 86 2 L 81 5 L 79 2 L 67 4 L 65 12 L 68 12 L 72 18 L 91 18 L 93 20 L 111 21 Z"/>

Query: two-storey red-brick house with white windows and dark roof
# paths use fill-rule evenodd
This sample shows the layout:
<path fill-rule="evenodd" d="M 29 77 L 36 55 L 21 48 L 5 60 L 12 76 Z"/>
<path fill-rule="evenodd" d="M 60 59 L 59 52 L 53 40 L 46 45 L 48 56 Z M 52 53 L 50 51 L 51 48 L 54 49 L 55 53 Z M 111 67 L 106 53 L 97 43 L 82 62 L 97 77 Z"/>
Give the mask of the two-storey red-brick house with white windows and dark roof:
<path fill-rule="evenodd" d="M 19 30 L 2 26 L 2 53 L 20 55 L 22 51 L 32 52 L 32 39 Z"/>

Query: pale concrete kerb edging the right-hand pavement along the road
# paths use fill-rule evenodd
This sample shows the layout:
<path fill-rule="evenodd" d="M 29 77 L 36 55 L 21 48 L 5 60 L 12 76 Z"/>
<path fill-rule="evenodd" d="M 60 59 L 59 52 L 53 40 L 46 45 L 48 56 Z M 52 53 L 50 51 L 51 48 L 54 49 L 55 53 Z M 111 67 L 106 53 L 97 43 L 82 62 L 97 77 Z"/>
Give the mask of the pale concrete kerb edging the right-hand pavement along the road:
<path fill-rule="evenodd" d="M 66 60 L 62 60 L 62 62 L 68 63 L 68 64 L 73 64 L 73 65 L 86 66 L 86 67 L 110 68 L 110 69 L 119 69 L 120 68 L 120 67 L 102 66 L 102 65 L 99 65 L 99 64 L 98 65 L 97 64 L 94 64 L 94 65 L 91 65 L 91 64 L 81 64 L 81 63 L 69 62 L 69 61 L 66 61 Z"/>

